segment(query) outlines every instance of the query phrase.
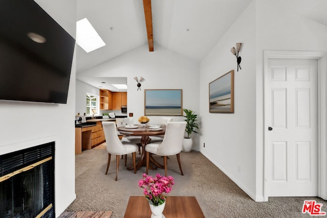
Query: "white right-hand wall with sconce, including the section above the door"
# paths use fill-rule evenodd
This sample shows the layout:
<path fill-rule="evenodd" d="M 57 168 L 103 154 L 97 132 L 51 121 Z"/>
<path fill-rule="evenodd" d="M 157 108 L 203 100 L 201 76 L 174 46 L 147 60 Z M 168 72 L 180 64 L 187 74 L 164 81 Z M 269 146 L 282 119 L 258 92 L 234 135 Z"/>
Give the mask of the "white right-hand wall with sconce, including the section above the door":
<path fill-rule="evenodd" d="M 290 14 L 269 0 L 254 0 L 200 63 L 201 152 L 252 199 L 263 201 L 265 50 L 327 51 L 327 27 Z M 208 113 L 208 83 L 230 69 L 230 47 L 242 42 L 235 75 L 235 113 Z M 240 171 L 240 172 L 239 172 Z"/>

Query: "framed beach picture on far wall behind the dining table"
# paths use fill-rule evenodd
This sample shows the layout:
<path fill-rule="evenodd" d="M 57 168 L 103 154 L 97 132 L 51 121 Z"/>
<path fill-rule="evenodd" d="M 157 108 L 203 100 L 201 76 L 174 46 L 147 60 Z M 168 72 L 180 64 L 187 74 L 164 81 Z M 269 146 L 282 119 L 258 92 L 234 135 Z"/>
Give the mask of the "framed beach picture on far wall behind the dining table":
<path fill-rule="evenodd" d="M 144 115 L 183 115 L 182 93 L 182 89 L 145 89 Z"/>

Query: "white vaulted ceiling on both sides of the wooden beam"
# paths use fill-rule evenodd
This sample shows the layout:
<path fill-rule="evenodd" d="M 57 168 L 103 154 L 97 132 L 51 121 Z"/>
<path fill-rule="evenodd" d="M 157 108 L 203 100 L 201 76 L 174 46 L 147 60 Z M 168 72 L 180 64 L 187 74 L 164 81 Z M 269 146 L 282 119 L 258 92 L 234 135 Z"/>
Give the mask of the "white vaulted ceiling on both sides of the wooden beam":
<path fill-rule="evenodd" d="M 157 44 L 200 62 L 251 1 L 152 0 L 154 52 Z M 327 26 L 327 0 L 266 1 Z M 106 45 L 90 53 L 76 46 L 78 79 L 79 72 L 148 43 L 142 0 L 77 0 L 77 20 L 84 17 Z"/>

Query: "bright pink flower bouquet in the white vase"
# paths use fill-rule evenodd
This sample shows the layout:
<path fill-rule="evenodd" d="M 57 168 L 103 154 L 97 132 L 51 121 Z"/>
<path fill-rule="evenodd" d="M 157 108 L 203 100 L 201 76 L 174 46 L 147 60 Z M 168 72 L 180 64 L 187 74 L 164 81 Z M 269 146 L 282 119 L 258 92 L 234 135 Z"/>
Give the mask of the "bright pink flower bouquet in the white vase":
<path fill-rule="evenodd" d="M 144 196 L 149 203 L 155 206 L 165 202 L 168 193 L 172 190 L 174 178 L 172 176 L 161 176 L 157 174 L 155 177 L 143 174 L 143 178 L 138 181 L 138 186 L 143 189 Z"/>

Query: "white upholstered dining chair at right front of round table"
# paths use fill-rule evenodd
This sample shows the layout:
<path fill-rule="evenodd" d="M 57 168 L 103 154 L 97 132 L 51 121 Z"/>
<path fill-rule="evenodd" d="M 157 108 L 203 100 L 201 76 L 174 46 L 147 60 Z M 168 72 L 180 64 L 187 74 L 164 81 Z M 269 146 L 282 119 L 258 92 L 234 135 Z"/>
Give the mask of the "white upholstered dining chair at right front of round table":
<path fill-rule="evenodd" d="M 183 146 L 184 131 L 186 122 L 169 122 L 162 142 L 149 143 L 145 147 L 146 151 L 146 172 L 149 170 L 150 153 L 164 157 L 165 176 L 167 176 L 167 156 L 176 155 L 180 174 L 183 174 L 180 164 L 180 152 Z"/>

